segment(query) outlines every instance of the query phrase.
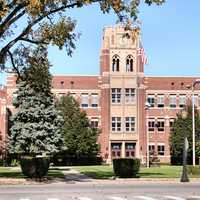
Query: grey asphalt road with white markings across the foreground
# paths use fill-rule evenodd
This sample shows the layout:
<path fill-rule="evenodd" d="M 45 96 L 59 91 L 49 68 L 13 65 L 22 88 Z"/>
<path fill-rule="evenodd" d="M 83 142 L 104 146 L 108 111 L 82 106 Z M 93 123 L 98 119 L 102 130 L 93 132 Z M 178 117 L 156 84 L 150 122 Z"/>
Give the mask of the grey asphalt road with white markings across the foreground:
<path fill-rule="evenodd" d="M 200 183 L 0 186 L 0 200 L 200 200 Z"/>

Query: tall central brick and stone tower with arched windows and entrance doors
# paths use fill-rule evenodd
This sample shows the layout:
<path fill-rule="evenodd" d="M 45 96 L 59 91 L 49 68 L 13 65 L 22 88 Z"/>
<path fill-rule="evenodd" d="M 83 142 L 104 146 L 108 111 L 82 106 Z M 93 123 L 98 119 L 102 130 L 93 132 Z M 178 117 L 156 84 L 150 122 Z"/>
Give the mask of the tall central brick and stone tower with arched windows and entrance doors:
<path fill-rule="evenodd" d="M 108 162 L 116 157 L 145 159 L 145 92 L 139 35 L 123 27 L 104 29 L 101 49 L 100 136 Z"/>

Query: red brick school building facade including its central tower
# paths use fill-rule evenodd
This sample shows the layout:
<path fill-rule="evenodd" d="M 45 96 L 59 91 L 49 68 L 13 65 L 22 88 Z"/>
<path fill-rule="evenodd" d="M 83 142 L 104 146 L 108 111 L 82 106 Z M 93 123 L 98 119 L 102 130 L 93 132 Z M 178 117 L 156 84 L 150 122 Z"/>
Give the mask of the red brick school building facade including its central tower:
<path fill-rule="evenodd" d="M 73 95 L 95 126 L 101 129 L 101 155 L 139 157 L 145 163 L 149 148 L 161 162 L 170 162 L 169 134 L 176 114 L 191 102 L 191 86 L 197 77 L 145 77 L 137 55 L 139 38 L 127 41 L 123 29 L 104 29 L 98 76 L 53 77 L 52 92 L 57 98 Z M 9 74 L 0 89 L 0 141 L 7 134 L 7 111 L 14 112 L 15 76 Z M 199 106 L 200 88 L 195 89 Z M 146 109 L 146 102 L 151 107 Z"/>

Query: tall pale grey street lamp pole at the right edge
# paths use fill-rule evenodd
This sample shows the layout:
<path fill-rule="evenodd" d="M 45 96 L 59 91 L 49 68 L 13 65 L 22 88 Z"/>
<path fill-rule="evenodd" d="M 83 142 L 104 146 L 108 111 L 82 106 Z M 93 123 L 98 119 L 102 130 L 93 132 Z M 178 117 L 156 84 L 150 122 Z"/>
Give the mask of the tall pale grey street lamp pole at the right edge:
<path fill-rule="evenodd" d="M 195 110 L 194 110 L 194 89 L 196 84 L 200 83 L 200 79 L 196 79 L 192 83 L 192 163 L 195 166 Z"/>

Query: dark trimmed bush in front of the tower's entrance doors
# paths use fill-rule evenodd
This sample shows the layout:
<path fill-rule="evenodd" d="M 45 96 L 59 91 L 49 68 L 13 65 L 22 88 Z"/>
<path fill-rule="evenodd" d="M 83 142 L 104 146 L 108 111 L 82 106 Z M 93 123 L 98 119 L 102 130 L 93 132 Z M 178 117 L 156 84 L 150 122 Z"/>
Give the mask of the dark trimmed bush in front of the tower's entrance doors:
<path fill-rule="evenodd" d="M 140 169 L 138 158 L 117 158 L 113 159 L 113 170 L 116 176 L 121 178 L 136 177 Z"/>

